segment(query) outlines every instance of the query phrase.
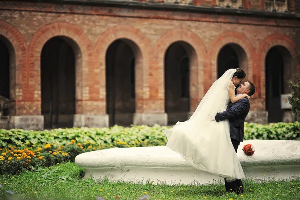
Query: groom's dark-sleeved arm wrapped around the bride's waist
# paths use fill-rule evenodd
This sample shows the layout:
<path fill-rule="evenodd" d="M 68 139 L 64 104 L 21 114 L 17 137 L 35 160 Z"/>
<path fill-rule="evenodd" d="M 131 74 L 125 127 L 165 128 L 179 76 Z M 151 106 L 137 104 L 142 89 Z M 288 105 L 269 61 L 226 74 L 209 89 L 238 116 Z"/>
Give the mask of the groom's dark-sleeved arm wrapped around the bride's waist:
<path fill-rule="evenodd" d="M 247 110 L 247 107 L 248 107 L 247 99 L 243 98 L 238 102 L 234 103 L 232 107 L 229 108 L 228 110 L 225 110 L 224 112 L 221 113 L 217 113 L 215 115 L 215 121 L 219 122 L 240 115 Z"/>

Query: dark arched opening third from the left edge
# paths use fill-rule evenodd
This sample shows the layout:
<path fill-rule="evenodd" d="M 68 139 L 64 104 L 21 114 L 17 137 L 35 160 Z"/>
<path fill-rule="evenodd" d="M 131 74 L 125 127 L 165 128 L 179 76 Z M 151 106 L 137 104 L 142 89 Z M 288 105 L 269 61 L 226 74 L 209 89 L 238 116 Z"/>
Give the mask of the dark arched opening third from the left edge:
<path fill-rule="evenodd" d="M 135 112 L 135 73 L 141 52 L 128 39 L 111 43 L 106 52 L 106 101 L 109 126 L 130 126 Z M 142 76 L 142 75 L 140 75 Z"/>

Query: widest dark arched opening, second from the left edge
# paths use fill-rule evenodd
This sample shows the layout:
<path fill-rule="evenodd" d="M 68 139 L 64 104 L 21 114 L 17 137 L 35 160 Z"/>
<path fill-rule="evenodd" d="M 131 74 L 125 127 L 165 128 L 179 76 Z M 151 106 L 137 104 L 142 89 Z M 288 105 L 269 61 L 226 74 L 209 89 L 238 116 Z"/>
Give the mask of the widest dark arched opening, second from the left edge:
<path fill-rule="evenodd" d="M 44 128 L 74 124 L 76 113 L 77 44 L 67 37 L 53 37 L 41 52 L 41 113 Z"/>

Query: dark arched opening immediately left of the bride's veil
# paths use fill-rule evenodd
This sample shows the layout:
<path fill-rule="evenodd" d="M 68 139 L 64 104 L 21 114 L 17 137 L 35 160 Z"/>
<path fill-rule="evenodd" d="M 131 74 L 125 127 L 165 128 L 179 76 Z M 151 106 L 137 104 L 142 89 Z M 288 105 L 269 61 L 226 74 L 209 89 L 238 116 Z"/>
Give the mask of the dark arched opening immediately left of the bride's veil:
<path fill-rule="evenodd" d="M 164 58 L 165 112 L 168 124 L 188 120 L 190 112 L 190 69 L 196 59 L 193 47 L 183 41 L 169 46 Z"/>

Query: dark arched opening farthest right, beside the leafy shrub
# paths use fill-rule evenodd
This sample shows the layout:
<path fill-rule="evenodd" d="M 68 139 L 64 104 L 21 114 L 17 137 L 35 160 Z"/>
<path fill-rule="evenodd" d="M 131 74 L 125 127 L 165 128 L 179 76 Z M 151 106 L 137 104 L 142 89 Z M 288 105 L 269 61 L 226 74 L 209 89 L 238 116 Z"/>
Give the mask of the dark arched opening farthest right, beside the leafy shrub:
<path fill-rule="evenodd" d="M 283 46 L 272 47 L 265 58 L 265 96 L 268 122 L 281 122 L 281 94 L 290 93 L 292 57 Z"/>

